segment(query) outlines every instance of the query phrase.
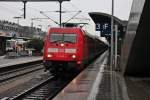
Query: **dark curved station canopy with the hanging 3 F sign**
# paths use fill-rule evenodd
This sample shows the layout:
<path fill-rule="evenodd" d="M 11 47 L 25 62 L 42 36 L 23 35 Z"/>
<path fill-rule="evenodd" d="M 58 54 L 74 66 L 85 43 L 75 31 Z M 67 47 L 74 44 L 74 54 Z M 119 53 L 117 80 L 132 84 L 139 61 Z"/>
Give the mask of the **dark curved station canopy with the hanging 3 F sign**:
<path fill-rule="evenodd" d="M 111 15 L 101 12 L 90 12 L 89 16 L 95 23 L 95 30 L 100 31 L 102 37 L 111 36 Z M 120 32 L 120 36 L 126 30 L 127 21 L 120 20 L 117 17 L 113 17 L 114 25 L 118 25 L 118 31 Z"/>

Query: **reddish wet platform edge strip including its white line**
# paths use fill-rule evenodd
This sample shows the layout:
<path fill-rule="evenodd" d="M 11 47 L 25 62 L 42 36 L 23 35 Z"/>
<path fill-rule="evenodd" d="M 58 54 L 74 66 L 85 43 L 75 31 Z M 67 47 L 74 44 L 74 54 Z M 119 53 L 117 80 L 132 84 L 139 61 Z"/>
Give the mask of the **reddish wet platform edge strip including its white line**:
<path fill-rule="evenodd" d="M 95 100 L 106 67 L 108 53 L 81 72 L 53 100 Z"/>

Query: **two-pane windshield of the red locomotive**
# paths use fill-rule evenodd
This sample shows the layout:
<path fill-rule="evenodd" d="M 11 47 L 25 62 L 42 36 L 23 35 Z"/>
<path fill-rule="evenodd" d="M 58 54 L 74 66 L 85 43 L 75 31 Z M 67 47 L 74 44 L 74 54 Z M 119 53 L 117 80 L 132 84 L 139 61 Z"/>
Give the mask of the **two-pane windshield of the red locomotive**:
<path fill-rule="evenodd" d="M 50 42 L 76 43 L 76 37 L 74 33 L 53 33 L 50 35 Z"/>

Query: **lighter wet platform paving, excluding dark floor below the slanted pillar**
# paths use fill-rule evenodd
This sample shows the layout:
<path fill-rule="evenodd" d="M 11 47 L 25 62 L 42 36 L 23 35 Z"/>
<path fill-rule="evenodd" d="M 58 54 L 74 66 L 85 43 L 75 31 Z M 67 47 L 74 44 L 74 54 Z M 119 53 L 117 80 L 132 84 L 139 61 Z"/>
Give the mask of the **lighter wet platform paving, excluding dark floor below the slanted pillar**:
<path fill-rule="evenodd" d="M 129 100 L 124 78 L 109 70 L 107 60 L 105 52 L 53 100 Z"/>

